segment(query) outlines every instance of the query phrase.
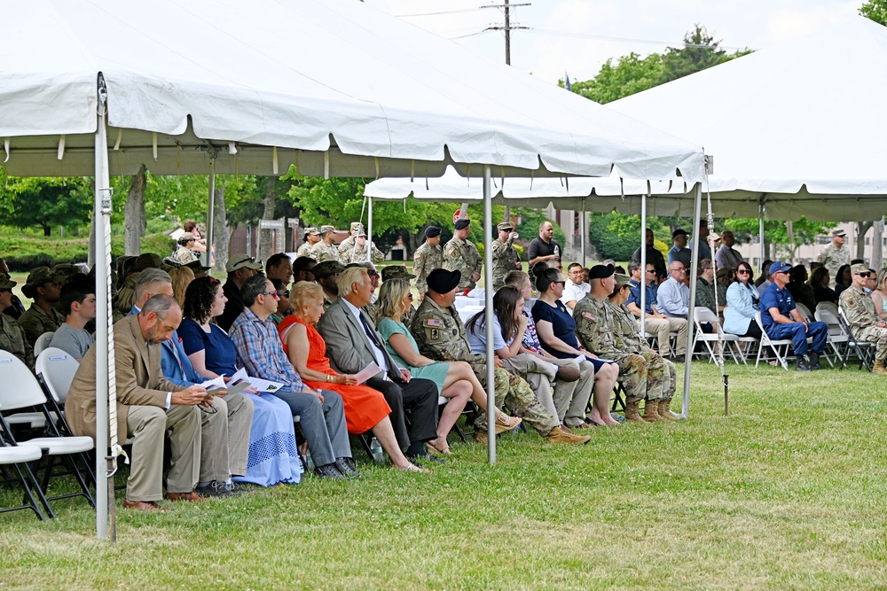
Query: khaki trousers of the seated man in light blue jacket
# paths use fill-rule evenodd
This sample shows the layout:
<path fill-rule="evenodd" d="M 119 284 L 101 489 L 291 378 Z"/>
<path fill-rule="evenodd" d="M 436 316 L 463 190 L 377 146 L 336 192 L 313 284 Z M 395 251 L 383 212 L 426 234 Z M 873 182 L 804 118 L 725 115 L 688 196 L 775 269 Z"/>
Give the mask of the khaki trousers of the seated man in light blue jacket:
<path fill-rule="evenodd" d="M 200 482 L 247 473 L 253 401 L 241 393 L 213 399 L 216 413 L 200 411 Z"/>

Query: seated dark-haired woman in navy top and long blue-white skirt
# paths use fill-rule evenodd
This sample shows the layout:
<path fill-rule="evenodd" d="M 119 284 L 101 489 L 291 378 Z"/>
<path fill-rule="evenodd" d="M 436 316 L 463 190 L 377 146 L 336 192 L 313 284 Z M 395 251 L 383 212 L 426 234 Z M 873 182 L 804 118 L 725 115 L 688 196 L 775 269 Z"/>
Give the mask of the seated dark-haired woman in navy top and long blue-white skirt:
<path fill-rule="evenodd" d="M 184 319 L 178 336 L 194 369 L 203 377 L 224 376 L 230 380 L 237 371 L 237 352 L 231 338 L 216 324 L 209 323 L 222 314 L 226 301 L 222 283 L 214 277 L 194 279 L 184 292 Z M 271 394 L 257 393 L 252 387 L 244 393 L 251 394 L 255 410 L 249 432 L 247 474 L 234 479 L 259 486 L 299 484 L 302 461 L 289 405 Z"/>

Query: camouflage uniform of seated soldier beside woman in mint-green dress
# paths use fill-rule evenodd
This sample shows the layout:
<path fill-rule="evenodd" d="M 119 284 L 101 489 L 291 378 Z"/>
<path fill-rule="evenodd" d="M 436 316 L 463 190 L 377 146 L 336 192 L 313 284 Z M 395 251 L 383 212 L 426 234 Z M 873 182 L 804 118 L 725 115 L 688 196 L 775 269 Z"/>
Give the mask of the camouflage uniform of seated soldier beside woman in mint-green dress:
<path fill-rule="evenodd" d="M 436 361 L 468 362 L 474 369 L 477 379 L 486 387 L 486 360 L 483 355 L 471 352 L 465 325 L 459 319 L 455 307 L 443 308 L 431 298 L 424 299 L 416 310 L 410 330 L 419 345 L 420 354 Z M 530 385 L 520 377 L 511 375 L 505 369 L 496 368 L 495 380 L 497 407 L 505 404 L 515 415 L 521 416 L 543 436 L 559 426 L 558 420 L 542 406 L 536 394 L 530 389 Z M 479 431 L 488 431 L 485 414 L 477 418 L 475 428 Z"/>

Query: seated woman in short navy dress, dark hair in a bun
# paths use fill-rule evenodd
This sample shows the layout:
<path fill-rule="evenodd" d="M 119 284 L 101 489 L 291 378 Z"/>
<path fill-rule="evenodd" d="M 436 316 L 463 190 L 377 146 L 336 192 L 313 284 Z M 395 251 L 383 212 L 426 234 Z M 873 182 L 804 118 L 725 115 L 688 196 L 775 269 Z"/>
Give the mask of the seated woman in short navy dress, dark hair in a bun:
<path fill-rule="evenodd" d="M 597 355 L 579 348 L 576 338 L 576 321 L 567 307 L 561 303 L 565 284 L 561 272 L 549 268 L 546 263 L 538 262 L 533 266 L 536 276 L 536 289 L 539 299 L 533 305 L 533 320 L 536 322 L 539 340 L 546 351 L 561 359 L 584 356 L 585 362 L 594 366 L 594 391 L 592 412 L 588 419 L 596 424 L 617 424 L 610 416 L 609 399 L 619 377 L 619 366 L 616 363 L 604 362 Z"/>

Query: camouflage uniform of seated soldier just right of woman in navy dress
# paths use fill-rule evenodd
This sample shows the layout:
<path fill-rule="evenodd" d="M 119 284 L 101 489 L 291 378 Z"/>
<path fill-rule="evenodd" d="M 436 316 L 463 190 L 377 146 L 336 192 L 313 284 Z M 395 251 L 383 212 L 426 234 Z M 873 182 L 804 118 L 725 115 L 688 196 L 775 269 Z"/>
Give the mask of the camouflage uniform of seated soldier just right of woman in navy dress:
<path fill-rule="evenodd" d="M 612 307 L 589 293 L 573 308 L 576 336 L 587 350 L 619 365 L 619 377 L 625 388 L 625 401 L 662 398 L 662 386 L 651 388 L 647 360 L 640 354 L 627 353 L 616 345 L 616 318 Z"/>

